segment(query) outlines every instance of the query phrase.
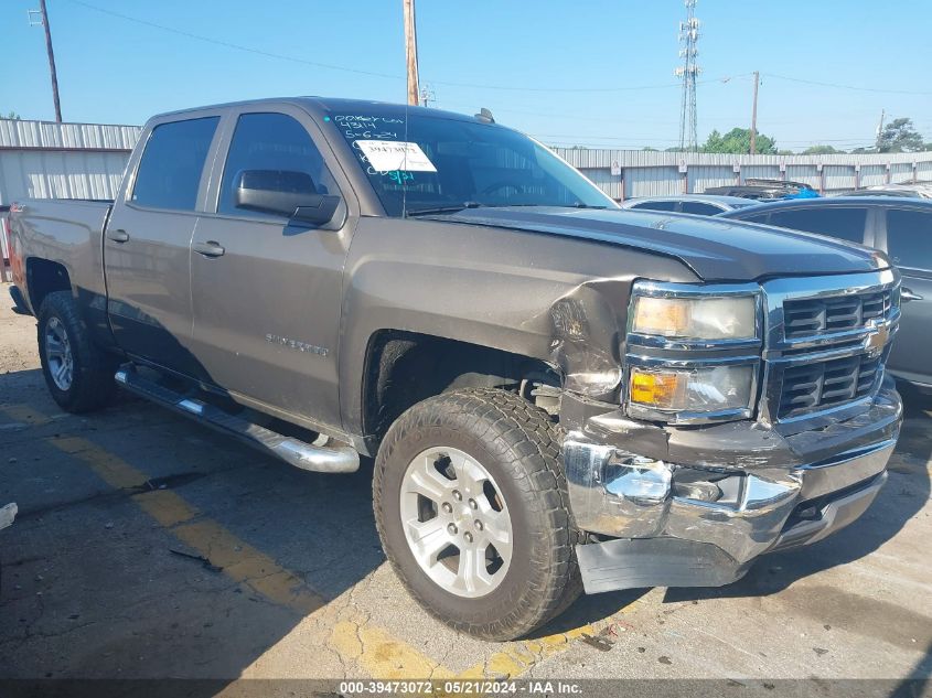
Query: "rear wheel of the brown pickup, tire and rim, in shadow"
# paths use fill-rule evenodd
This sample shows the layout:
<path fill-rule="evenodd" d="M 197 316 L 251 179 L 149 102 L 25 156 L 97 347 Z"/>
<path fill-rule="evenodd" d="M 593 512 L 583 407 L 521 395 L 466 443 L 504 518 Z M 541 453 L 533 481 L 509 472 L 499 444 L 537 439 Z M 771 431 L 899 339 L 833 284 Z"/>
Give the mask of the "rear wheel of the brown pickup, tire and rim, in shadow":
<path fill-rule="evenodd" d="M 89 412 L 113 399 L 117 361 L 94 345 L 71 291 L 55 291 L 42 302 L 39 357 L 45 385 L 63 410 Z M 62 372 L 68 363 L 71 371 Z"/>

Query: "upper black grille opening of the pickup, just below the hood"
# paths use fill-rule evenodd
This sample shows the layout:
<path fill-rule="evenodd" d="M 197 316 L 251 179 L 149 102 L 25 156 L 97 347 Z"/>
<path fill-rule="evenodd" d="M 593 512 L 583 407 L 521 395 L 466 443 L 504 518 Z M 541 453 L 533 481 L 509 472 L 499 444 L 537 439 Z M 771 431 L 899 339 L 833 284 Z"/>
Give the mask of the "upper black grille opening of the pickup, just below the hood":
<path fill-rule="evenodd" d="M 783 303 L 788 340 L 858 330 L 890 312 L 890 291 L 859 296 L 788 300 Z"/>

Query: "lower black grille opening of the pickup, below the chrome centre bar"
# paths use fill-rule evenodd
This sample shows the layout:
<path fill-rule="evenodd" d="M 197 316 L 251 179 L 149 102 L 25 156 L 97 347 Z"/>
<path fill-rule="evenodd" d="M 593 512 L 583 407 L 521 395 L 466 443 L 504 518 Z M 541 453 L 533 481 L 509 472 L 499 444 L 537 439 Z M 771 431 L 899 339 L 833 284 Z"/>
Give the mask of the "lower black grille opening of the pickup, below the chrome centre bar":
<path fill-rule="evenodd" d="M 880 361 L 861 354 L 786 368 L 778 417 L 797 417 L 867 397 L 874 390 Z"/>

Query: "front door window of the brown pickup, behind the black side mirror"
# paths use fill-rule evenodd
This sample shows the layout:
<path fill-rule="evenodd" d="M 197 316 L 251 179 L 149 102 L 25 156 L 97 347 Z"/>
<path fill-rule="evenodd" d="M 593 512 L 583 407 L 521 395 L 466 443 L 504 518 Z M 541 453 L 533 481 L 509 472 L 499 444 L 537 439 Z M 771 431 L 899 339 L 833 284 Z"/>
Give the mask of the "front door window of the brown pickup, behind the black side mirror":
<path fill-rule="evenodd" d="M 246 170 L 277 172 L 286 189 L 299 182 L 318 194 L 340 193 L 307 129 L 285 114 L 244 114 L 237 119 L 221 182 L 217 213 L 267 218 L 267 213 L 236 207 L 234 192 Z"/>

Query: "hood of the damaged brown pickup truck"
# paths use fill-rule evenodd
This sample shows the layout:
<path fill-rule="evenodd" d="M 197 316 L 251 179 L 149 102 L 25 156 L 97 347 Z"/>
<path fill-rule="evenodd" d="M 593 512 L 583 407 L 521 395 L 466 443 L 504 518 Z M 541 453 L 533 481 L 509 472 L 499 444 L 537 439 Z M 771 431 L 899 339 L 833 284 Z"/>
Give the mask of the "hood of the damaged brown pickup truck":
<path fill-rule="evenodd" d="M 890 266 L 882 253 L 821 235 L 665 212 L 515 206 L 464 208 L 429 218 L 650 250 L 681 260 L 705 281 L 857 273 Z"/>

